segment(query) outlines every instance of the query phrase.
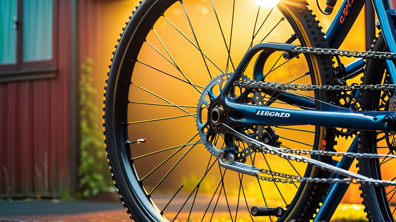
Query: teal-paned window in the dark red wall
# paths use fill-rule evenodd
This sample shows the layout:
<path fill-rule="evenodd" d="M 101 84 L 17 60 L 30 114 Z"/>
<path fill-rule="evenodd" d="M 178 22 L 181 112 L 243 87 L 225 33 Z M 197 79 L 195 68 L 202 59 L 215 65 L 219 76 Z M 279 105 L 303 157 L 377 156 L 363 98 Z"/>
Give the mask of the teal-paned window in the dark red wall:
<path fill-rule="evenodd" d="M 0 0 L 0 76 L 53 70 L 54 1 Z"/>

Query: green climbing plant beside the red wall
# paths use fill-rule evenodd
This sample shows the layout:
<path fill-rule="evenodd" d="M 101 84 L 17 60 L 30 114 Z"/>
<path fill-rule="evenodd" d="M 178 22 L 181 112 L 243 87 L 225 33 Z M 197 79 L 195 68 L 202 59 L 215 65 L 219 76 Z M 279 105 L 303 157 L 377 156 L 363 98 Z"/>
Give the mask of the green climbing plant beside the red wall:
<path fill-rule="evenodd" d="M 92 58 L 81 65 L 80 75 L 80 188 L 82 196 L 109 190 L 112 181 L 103 149 L 103 130 L 99 116 L 101 107 L 95 103 L 97 90 L 93 86 Z"/>

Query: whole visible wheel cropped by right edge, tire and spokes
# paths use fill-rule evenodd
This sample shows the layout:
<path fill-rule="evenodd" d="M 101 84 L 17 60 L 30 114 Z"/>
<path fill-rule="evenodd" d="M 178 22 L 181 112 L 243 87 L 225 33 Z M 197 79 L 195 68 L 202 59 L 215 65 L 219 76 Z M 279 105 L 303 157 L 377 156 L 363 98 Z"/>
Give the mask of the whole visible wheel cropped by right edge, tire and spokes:
<path fill-rule="evenodd" d="M 375 40 L 372 51 L 388 52 L 382 34 Z M 385 60 L 367 58 L 363 84 L 386 84 L 389 76 L 386 73 Z M 361 94 L 362 106 L 365 110 L 389 111 L 391 91 L 363 90 Z M 360 152 L 395 154 L 394 132 L 360 132 Z M 359 159 L 359 171 L 362 175 L 374 179 L 395 180 L 392 174 L 395 164 L 393 158 L 383 160 Z M 374 187 L 361 185 L 363 204 L 366 207 L 369 221 L 395 221 L 396 193 L 394 187 Z"/>

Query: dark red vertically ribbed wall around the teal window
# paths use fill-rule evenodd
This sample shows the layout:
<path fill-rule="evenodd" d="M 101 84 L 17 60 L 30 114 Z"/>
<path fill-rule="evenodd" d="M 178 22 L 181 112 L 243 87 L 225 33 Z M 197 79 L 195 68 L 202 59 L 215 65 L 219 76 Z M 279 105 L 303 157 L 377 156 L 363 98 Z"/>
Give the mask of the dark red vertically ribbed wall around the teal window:
<path fill-rule="evenodd" d="M 0 197 L 70 186 L 70 2 L 59 2 L 55 79 L 0 84 Z"/>

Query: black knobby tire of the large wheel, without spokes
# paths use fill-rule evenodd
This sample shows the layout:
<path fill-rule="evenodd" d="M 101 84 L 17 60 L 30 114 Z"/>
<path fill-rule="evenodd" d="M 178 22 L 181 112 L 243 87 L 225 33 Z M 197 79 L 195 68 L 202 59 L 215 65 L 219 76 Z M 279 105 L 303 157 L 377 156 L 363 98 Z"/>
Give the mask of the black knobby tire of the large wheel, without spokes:
<path fill-rule="evenodd" d="M 178 1 L 145 0 L 141 2 L 141 5 L 137 7 L 137 10 L 127 23 L 121 39 L 118 40 L 119 43 L 116 45 L 116 52 L 108 73 L 109 78 L 106 81 L 104 134 L 108 162 L 112 179 L 120 194 L 121 201 L 126 207 L 127 213 L 131 214 L 131 218 L 136 221 L 167 221 L 172 219 L 165 218 L 151 197 L 147 195 L 148 192 L 140 180 L 141 177 L 139 177 L 137 169 L 135 169 L 135 163 L 129 159 L 131 154 L 127 151 L 127 149 L 129 150 L 129 145 L 126 145 L 126 141 L 128 141 L 130 132 L 126 129 L 126 122 L 128 122 L 128 109 L 131 109 L 128 107 L 128 94 L 137 55 L 154 23 L 175 2 Z M 306 5 L 305 1 L 293 1 L 293 4 L 284 1 L 283 4 L 282 2 L 278 4 L 278 7 L 295 30 L 303 46 L 326 48 L 328 47 L 326 39 L 318 26 L 318 21 L 316 21 L 312 11 Z M 329 56 L 305 55 L 305 57 L 312 83 L 334 85 L 333 61 Z M 318 101 L 329 102 L 334 97 L 335 95 L 332 92 L 316 92 L 315 98 L 317 102 L 315 108 L 321 109 L 322 107 L 322 103 Z M 314 149 L 321 149 L 323 146 L 323 149 L 333 150 L 334 137 L 333 130 L 327 130 L 326 135 L 325 128 L 316 127 Z M 202 152 L 206 152 L 205 149 L 202 149 Z M 331 162 L 329 157 L 314 156 L 314 158 Z M 327 177 L 328 175 L 329 172 L 312 165 L 308 165 L 305 171 L 305 176 L 309 177 Z M 286 214 L 280 218 L 280 221 L 308 221 L 312 219 L 327 188 L 327 184 L 301 184 L 295 197 L 287 206 Z M 219 196 L 220 194 L 221 189 Z"/>

